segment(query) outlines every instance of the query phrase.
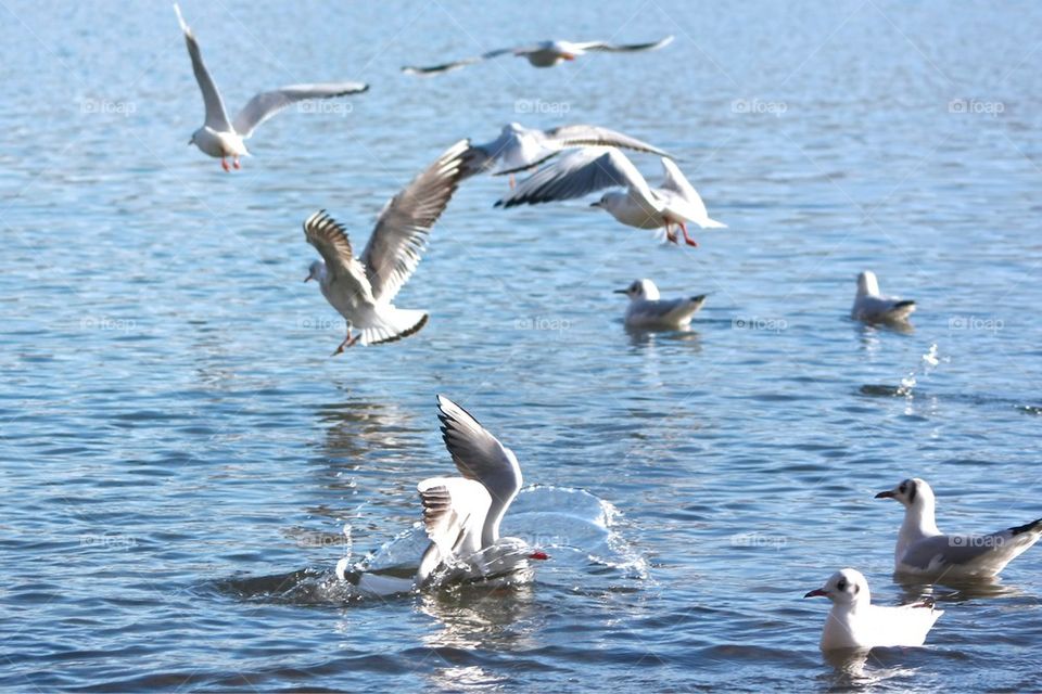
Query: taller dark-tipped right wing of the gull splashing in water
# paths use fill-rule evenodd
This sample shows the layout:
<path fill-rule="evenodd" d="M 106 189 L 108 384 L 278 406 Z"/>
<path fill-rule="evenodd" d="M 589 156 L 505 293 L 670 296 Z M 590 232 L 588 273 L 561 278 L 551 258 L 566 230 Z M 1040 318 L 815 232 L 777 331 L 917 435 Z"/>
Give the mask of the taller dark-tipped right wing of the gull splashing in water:
<path fill-rule="evenodd" d="M 456 468 L 488 490 L 492 507 L 484 519 L 482 548 L 498 539 L 499 520 L 521 489 L 521 466 L 513 452 L 488 433 L 467 410 L 437 396 L 442 438 Z"/>

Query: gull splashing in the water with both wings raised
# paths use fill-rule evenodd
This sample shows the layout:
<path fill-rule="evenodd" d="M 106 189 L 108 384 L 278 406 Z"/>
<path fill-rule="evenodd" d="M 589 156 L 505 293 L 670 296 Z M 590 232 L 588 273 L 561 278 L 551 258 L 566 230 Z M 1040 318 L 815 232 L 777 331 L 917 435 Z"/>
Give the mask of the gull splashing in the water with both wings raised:
<path fill-rule="evenodd" d="M 431 542 L 410 581 L 364 573 L 358 587 L 387 594 L 445 582 L 524 575 L 530 560 L 549 558 L 521 538 L 500 537 L 499 524 L 521 489 L 521 467 L 509 448 L 473 416 L 437 396 L 442 438 L 459 477 L 431 477 L 417 486 Z M 348 570 L 341 561 L 336 574 Z"/>

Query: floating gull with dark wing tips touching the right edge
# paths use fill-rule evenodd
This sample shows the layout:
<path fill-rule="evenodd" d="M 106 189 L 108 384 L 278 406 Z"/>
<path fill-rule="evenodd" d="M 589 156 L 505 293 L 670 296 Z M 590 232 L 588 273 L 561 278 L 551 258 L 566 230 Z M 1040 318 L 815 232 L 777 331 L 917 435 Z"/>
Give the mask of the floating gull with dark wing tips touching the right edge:
<path fill-rule="evenodd" d="M 898 574 L 950 580 L 990 578 L 1042 537 L 1042 518 L 991 535 L 944 535 L 933 519 L 933 490 L 917 477 L 880 491 L 876 499 L 897 499 L 904 505 L 904 523 L 893 553 Z"/>

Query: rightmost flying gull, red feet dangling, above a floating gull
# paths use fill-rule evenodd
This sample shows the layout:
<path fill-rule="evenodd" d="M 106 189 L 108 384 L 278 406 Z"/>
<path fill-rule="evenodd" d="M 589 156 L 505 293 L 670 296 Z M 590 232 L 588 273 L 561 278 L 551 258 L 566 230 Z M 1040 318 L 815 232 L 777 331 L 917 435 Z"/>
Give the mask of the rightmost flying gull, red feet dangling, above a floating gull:
<path fill-rule="evenodd" d="M 572 200 L 605 188 L 624 188 L 611 191 L 590 207 L 608 210 L 612 217 L 637 229 L 665 229 L 666 239 L 676 243 L 674 227 L 684 232 L 689 246 L 698 243 L 687 233 L 686 222 L 702 229 L 720 229 L 727 224 L 709 218 L 706 204 L 684 178 L 672 160 L 663 157 L 665 179 L 661 188 L 652 189 L 626 155 L 614 147 L 583 147 L 569 152 L 550 166 L 522 181 L 496 207 L 536 205 L 551 201 Z"/>

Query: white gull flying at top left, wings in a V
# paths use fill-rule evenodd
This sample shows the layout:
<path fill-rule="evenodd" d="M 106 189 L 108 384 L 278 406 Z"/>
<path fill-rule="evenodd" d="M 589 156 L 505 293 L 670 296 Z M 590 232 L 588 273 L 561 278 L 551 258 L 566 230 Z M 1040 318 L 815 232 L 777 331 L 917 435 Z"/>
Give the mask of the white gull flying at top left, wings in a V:
<path fill-rule="evenodd" d="M 195 35 L 185 23 L 181 9 L 176 3 L 174 11 L 177 12 L 177 21 L 181 25 L 181 31 L 185 33 L 188 54 L 192 59 L 192 72 L 195 73 L 195 81 L 199 82 L 199 88 L 203 92 L 203 102 L 206 105 L 206 121 L 202 128 L 192 133 L 192 139 L 188 143 L 194 144 L 209 156 L 219 157 L 220 165 L 226 171 L 230 170 L 227 157 L 232 157 L 232 166 L 238 169 L 240 168 L 239 157 L 250 155 L 243 140 L 252 136 L 257 126 L 290 104 L 306 99 L 330 99 L 331 97 L 355 94 L 369 89 L 369 85 L 363 82 L 291 85 L 275 91 L 263 91 L 255 94 L 239 112 L 234 120 L 228 120 L 220 92 L 217 91 L 217 86 L 203 64 L 203 56 L 199 51 Z"/>

